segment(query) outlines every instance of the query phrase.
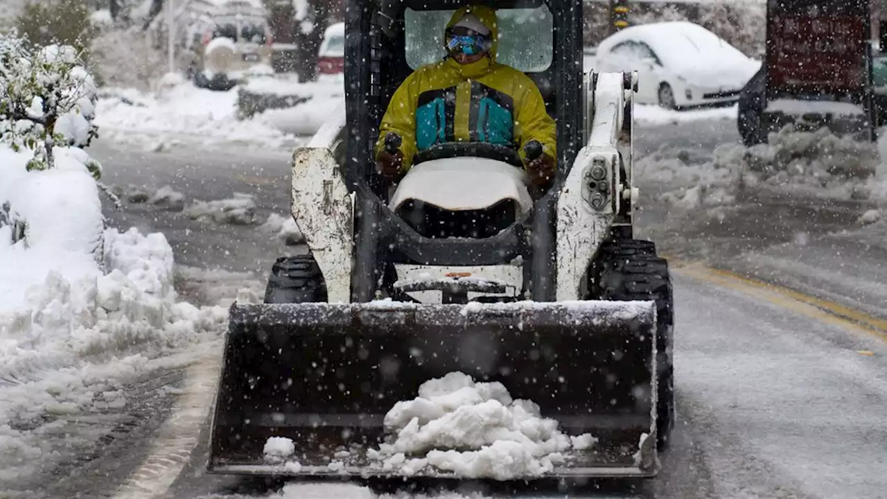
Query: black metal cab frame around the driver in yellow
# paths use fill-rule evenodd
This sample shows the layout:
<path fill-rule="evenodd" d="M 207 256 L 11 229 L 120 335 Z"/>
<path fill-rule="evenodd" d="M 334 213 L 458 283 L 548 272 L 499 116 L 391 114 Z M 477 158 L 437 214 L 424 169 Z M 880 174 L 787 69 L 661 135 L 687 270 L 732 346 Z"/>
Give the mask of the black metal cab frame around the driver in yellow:
<path fill-rule="evenodd" d="M 454 11 L 485 4 L 500 12 L 544 6 L 552 20 L 551 63 L 527 75 L 540 87 L 557 123 L 558 175 L 533 210 L 499 234 L 484 239 L 428 239 L 389 210 L 374 172 L 373 145 L 396 89 L 413 68 L 407 61 L 407 9 Z M 349 0 L 345 19 L 345 113 L 348 124 L 343 175 L 356 194 L 354 302 L 373 299 L 380 278 L 391 284 L 390 263 L 508 265 L 523 261 L 524 290 L 531 299 L 554 300 L 555 208 L 562 178 L 583 144 L 583 4 L 581 0 Z M 435 36 L 443 36 L 443 30 Z M 501 38 L 501 35 L 500 35 Z M 532 286 L 530 286 L 532 283 Z M 383 284 L 384 285 L 384 284 Z"/>

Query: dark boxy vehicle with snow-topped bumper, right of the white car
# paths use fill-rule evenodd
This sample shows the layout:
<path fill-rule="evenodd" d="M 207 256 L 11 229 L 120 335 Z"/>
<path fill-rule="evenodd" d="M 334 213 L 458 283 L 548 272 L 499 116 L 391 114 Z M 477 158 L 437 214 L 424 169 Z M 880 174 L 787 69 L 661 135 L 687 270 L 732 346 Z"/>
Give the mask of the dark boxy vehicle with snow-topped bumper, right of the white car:
<path fill-rule="evenodd" d="M 739 99 L 743 142 L 765 142 L 771 131 L 790 124 L 875 140 L 883 96 L 875 98 L 873 76 L 883 64 L 868 37 L 869 4 L 772 0 L 766 9 L 764 64 Z"/>

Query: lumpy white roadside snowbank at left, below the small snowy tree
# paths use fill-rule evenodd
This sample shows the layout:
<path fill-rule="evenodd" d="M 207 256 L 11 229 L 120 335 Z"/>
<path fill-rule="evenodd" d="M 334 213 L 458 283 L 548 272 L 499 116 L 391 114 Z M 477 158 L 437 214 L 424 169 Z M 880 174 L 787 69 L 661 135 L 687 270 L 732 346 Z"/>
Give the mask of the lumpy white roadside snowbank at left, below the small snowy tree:
<path fill-rule="evenodd" d="M 216 342 L 227 315 L 178 301 L 164 235 L 106 229 L 89 156 L 53 149 L 53 168 L 27 171 L 29 153 L 0 145 L 4 496 L 75 463 L 137 410 L 130 384 L 187 365 L 175 354 Z"/>

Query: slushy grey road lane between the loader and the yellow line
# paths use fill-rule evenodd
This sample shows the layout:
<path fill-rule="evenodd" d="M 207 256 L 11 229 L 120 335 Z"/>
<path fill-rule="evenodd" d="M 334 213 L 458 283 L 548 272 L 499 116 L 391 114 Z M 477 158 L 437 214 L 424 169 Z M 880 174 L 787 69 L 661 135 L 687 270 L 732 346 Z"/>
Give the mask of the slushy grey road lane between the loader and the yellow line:
<path fill-rule="evenodd" d="M 887 497 L 887 337 L 701 265 L 675 273 L 679 424 L 663 472 L 569 496 Z M 192 453 L 169 497 L 373 497 L 357 485 L 206 475 L 203 460 Z M 564 496 L 478 487 L 449 497 Z"/>

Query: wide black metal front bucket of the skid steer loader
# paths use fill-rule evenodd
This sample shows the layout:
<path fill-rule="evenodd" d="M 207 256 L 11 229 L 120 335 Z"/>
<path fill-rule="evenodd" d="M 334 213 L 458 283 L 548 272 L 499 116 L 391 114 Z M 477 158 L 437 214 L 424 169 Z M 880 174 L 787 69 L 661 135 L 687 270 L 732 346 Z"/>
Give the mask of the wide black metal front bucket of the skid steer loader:
<path fill-rule="evenodd" d="M 536 402 L 563 433 L 599 439 L 546 476 L 653 476 L 655 445 L 639 452 L 639 440 L 655 442 L 655 323 L 647 301 L 235 303 L 208 470 L 391 476 L 367 455 L 385 438 L 385 414 L 460 371 Z M 269 462 L 270 437 L 293 440 L 299 465 Z M 332 466 L 342 448 L 348 456 Z"/>

